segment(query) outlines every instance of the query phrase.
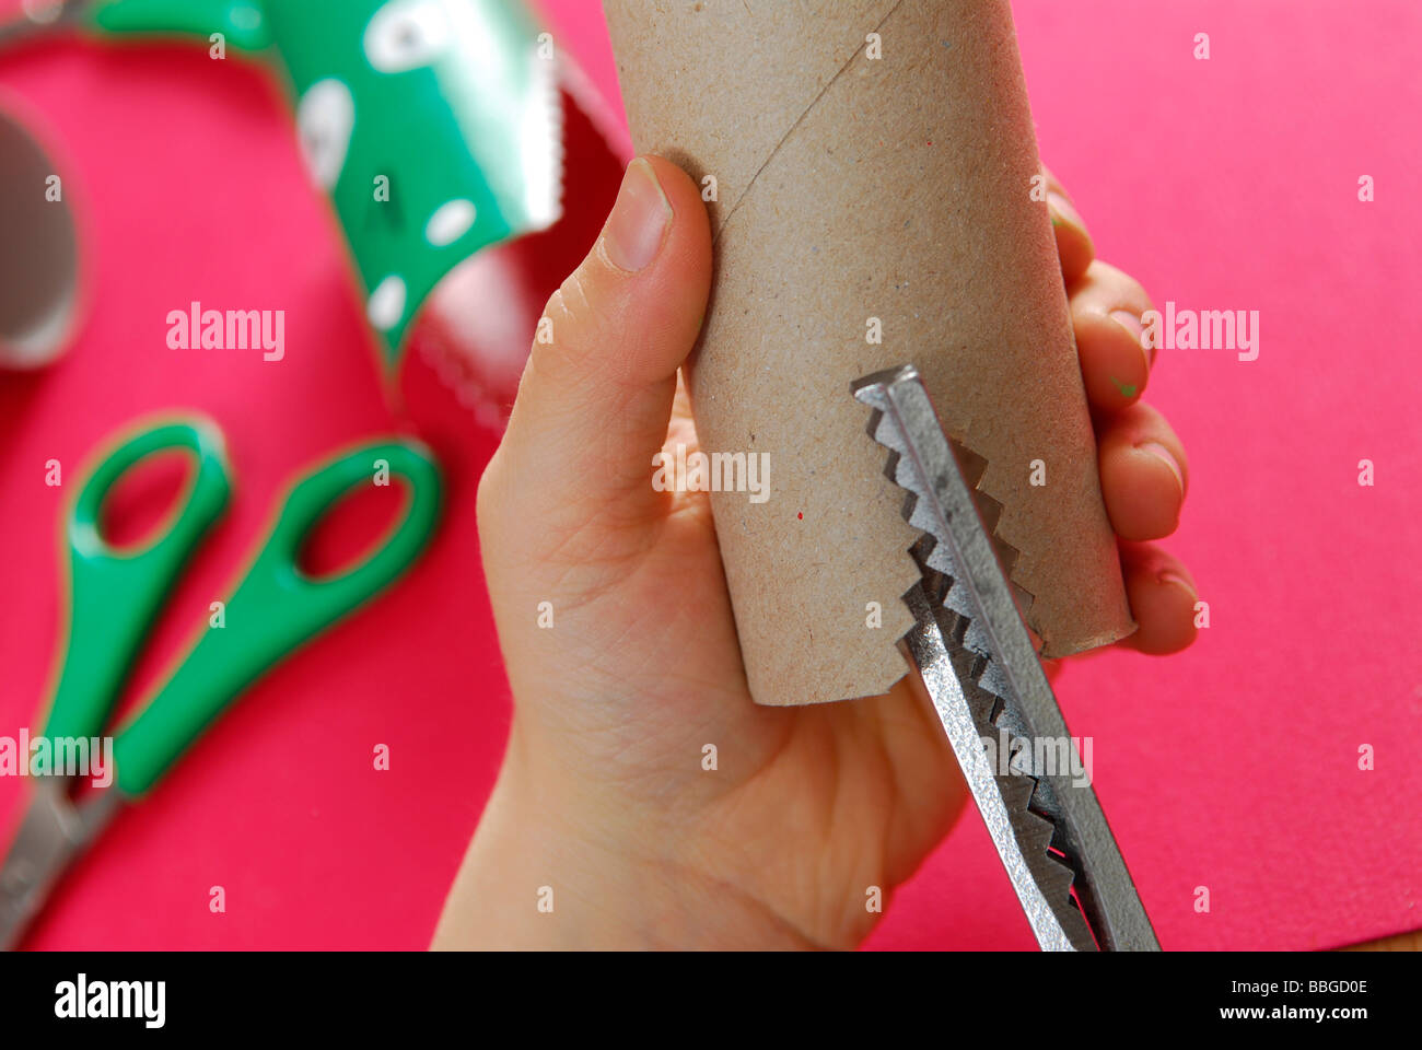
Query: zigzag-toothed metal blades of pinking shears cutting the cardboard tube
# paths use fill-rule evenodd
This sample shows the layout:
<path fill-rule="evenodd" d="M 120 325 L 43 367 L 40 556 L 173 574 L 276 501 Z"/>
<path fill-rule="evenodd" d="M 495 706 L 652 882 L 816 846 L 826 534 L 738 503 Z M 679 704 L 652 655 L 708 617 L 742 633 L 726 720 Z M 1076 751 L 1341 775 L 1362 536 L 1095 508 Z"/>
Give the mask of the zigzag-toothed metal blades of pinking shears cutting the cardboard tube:
<path fill-rule="evenodd" d="M 914 549 L 924 580 L 904 595 L 916 622 L 904 646 L 1032 932 L 1044 949 L 1159 949 L 1089 783 L 1059 764 L 1027 775 L 988 758 L 995 734 L 1034 755 L 1071 737 L 917 370 L 866 376 L 853 394 L 875 410 L 886 472 L 910 492 L 904 516 L 931 538 Z"/>

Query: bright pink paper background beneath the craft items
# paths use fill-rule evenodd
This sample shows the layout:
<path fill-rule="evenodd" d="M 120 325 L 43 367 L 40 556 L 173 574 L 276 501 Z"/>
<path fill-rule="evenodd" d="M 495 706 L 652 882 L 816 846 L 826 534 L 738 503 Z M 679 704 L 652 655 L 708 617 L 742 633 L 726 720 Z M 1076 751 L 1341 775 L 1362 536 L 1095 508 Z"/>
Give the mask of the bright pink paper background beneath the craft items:
<path fill-rule="evenodd" d="M 549 0 L 616 100 L 599 6 Z M 0 10 L 16 7 L 11 0 Z M 1042 154 L 1099 253 L 1158 304 L 1261 313 L 1256 361 L 1160 356 L 1148 398 L 1190 452 L 1169 546 L 1212 626 L 1167 660 L 1061 680 L 1072 731 L 1166 948 L 1321 948 L 1422 926 L 1422 9 L 1297 0 L 1018 0 Z M 1212 58 L 1192 57 L 1209 33 Z M 58 43 L 0 57 L 82 208 L 90 314 L 71 354 L 0 377 L 0 734 L 38 730 L 60 617 L 67 482 L 135 415 L 226 430 L 239 497 L 139 664 L 155 684 L 299 468 L 402 424 L 273 83 L 201 48 Z M 1358 201 L 1372 175 L 1376 201 Z M 579 208 L 573 181 L 570 208 Z M 0 249 L 3 250 L 3 249 Z M 279 366 L 172 351 L 169 309 L 286 309 Z M 448 475 L 429 555 L 237 704 L 75 869 L 33 948 L 419 948 L 492 784 L 509 717 L 475 541 L 493 438 L 425 383 Z M 415 398 L 412 398 L 414 401 Z M 1376 485 L 1357 484 L 1358 461 Z M 391 770 L 371 768 L 375 744 Z M 1357 767 L 1359 744 L 1376 768 Z M 0 827 L 21 781 L 0 778 Z M 7 835 L 0 831 L 0 835 Z M 208 911 L 213 885 L 228 912 Z M 1193 909 L 1207 886 L 1212 911 Z M 1030 948 L 968 814 L 873 948 Z"/>

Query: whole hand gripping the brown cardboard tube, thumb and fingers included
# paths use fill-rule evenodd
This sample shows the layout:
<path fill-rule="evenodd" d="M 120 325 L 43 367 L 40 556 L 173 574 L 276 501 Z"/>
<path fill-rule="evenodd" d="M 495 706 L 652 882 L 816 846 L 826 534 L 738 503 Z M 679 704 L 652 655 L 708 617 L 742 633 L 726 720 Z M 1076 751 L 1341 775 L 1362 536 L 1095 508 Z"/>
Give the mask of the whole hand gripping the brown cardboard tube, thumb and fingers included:
<path fill-rule="evenodd" d="M 1150 304 L 1092 260 L 1051 185 L 1106 508 L 1132 541 L 1129 643 L 1172 652 L 1193 639 L 1194 589 L 1135 541 L 1175 529 L 1185 454 L 1136 400 L 1150 361 L 1118 313 Z M 751 701 L 707 495 L 650 484 L 654 452 L 695 444 L 677 368 L 710 280 L 695 185 L 661 158 L 634 161 L 547 304 L 553 341 L 535 343 L 479 487 L 515 716 L 438 948 L 849 948 L 875 923 L 869 888 L 909 878 L 963 805 L 943 731 L 907 684 Z"/>

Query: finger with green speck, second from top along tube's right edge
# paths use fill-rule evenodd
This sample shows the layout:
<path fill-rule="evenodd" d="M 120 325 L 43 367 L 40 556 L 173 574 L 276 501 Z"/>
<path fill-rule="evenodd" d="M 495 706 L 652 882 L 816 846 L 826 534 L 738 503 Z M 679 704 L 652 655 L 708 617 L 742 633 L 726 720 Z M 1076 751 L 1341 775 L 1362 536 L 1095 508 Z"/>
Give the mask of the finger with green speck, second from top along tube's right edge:
<path fill-rule="evenodd" d="M 1150 378 L 1140 324 L 1150 296 L 1138 280 L 1099 259 L 1068 290 L 1086 403 L 1096 413 L 1135 404 Z"/>

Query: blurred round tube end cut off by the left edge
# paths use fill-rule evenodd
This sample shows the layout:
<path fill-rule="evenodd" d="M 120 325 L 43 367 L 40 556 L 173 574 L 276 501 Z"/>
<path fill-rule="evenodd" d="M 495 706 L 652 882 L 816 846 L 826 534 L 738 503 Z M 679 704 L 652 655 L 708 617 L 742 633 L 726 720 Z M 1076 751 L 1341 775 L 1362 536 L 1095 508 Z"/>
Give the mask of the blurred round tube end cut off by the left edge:
<path fill-rule="evenodd" d="M 48 152 L 0 102 L 0 367 L 58 357 L 78 314 L 78 233 Z M 57 198 L 57 199 L 54 199 Z"/>

